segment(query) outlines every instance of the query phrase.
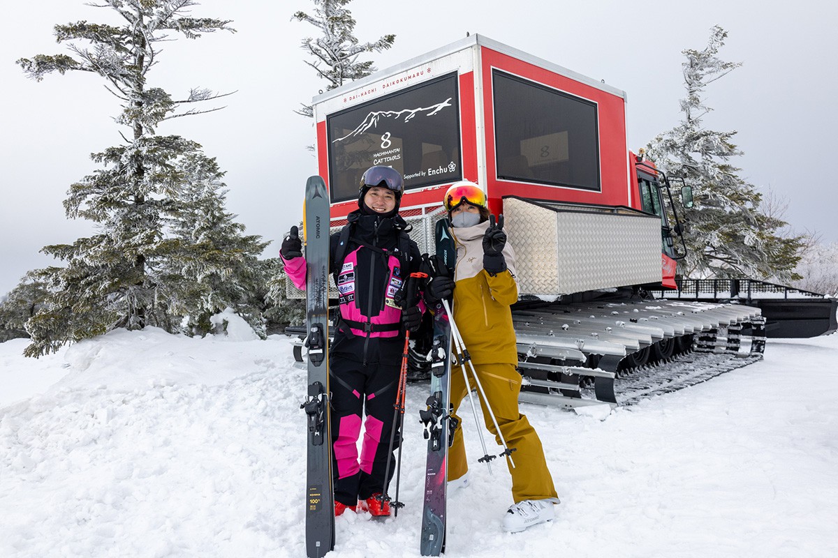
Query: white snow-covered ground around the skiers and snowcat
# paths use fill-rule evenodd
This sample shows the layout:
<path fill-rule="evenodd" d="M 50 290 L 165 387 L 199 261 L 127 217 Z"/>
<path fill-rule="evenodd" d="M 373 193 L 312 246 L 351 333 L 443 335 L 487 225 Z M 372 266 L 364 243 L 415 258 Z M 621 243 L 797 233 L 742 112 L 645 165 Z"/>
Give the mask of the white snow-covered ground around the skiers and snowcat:
<path fill-rule="evenodd" d="M 118 330 L 37 361 L 0 344 L 0 556 L 304 556 L 305 374 L 287 338 L 230 332 Z M 838 335 L 769 340 L 758 364 L 605 420 L 522 405 L 562 502 L 519 535 L 468 417 L 446 555 L 838 555 L 836 361 Z M 426 397 L 411 384 L 406 507 L 338 518 L 335 558 L 419 555 Z"/>

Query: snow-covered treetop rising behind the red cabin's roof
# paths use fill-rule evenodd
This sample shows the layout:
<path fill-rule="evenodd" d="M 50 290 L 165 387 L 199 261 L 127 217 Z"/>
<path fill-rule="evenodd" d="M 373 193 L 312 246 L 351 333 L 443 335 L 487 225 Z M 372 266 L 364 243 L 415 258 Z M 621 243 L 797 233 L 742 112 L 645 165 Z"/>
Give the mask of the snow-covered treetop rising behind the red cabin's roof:
<path fill-rule="evenodd" d="M 313 0 L 314 13 L 294 13 L 293 19 L 311 23 L 322 33 L 321 37 L 303 38 L 302 48 L 313 59 L 306 61 L 319 77 L 328 82 L 326 90 L 349 81 L 366 77 L 375 68 L 371 61 L 359 61 L 360 54 L 381 52 L 390 49 L 396 41 L 396 35 L 388 34 L 379 38 L 375 43 L 360 43 L 353 31 L 355 20 L 352 13 L 344 8 L 352 0 Z M 297 114 L 313 116 L 312 105 L 301 103 L 303 108 L 295 110 Z"/>

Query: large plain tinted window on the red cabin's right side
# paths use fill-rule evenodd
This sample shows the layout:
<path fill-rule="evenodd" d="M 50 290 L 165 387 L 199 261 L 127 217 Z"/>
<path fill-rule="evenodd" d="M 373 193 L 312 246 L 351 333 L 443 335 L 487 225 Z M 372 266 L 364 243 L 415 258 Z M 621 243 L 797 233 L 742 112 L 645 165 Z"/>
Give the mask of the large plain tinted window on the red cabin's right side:
<path fill-rule="evenodd" d="M 494 70 L 498 178 L 599 190 L 597 105 Z"/>

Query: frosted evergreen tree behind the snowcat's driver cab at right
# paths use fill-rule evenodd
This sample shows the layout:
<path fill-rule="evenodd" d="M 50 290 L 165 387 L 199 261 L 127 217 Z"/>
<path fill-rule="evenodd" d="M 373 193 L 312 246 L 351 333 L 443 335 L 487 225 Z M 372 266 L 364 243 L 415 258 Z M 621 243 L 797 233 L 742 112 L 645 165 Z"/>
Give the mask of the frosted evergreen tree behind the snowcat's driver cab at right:
<path fill-rule="evenodd" d="M 742 169 L 729 162 L 742 155 L 732 143 L 737 132 L 712 131 L 704 125 L 712 110 L 705 104 L 706 87 L 742 65 L 718 58 L 725 38 L 727 32 L 714 26 L 704 49 L 683 51 L 684 119 L 647 147 L 647 155 L 662 171 L 670 178 L 682 178 L 693 189 L 695 206 L 685 209 L 688 253 L 679 263 L 679 274 L 799 279 L 794 267 L 805 238 L 781 236 L 787 223 L 763 212 L 762 194 L 739 176 Z"/>

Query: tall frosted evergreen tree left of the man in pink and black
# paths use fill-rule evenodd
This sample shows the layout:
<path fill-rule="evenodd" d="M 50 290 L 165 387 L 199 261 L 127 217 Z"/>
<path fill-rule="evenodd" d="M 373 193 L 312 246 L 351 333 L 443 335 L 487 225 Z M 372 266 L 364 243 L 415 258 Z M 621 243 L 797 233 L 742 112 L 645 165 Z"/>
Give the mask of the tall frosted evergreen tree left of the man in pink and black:
<path fill-rule="evenodd" d="M 209 186 L 220 178 L 215 161 L 205 157 L 194 141 L 158 136 L 155 129 L 163 120 L 218 110 L 201 110 L 194 104 L 224 95 L 194 89 L 176 100 L 147 80 L 159 62 L 159 45 L 173 40 L 172 33 L 199 38 L 203 33 L 235 31 L 230 21 L 189 16 L 194 5 L 192 0 L 102 0 L 91 6 L 110 8 L 121 25 L 86 21 L 56 25 L 54 35 L 67 44 L 70 55 L 39 54 L 18 60 L 25 74 L 36 80 L 54 72 L 100 76 L 121 102 L 116 122 L 127 127 L 122 145 L 91 156 L 102 168 L 73 184 L 64 202 L 68 218 L 91 220 L 96 233 L 42 250 L 66 265 L 34 272 L 51 294 L 44 309 L 28 320 L 33 339 L 26 351 L 29 356 L 116 327 L 156 325 L 178 331 L 184 316 L 198 316 L 235 301 L 229 293 L 209 295 L 208 285 L 218 285 L 209 278 L 215 277 L 222 262 L 244 261 L 261 250 L 256 238 L 241 237 L 241 226 L 226 226 L 223 233 L 231 237 L 215 238 L 218 250 L 206 248 L 204 238 L 190 241 L 178 236 L 183 223 L 209 223 L 213 217 L 208 207 L 223 205 L 218 190 Z M 221 218 L 225 219 L 230 216 Z M 222 256 L 219 252 L 229 246 L 241 253 Z M 185 254 L 208 261 L 187 265 Z M 220 274 L 232 281 L 233 291 L 246 284 L 236 275 L 241 267 Z"/>

